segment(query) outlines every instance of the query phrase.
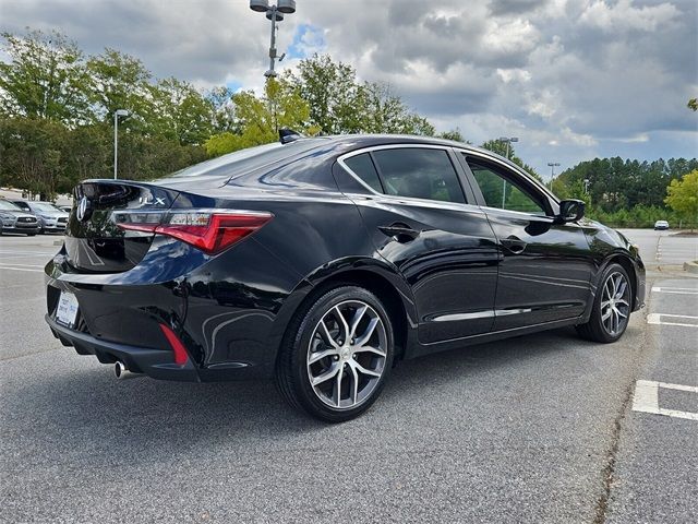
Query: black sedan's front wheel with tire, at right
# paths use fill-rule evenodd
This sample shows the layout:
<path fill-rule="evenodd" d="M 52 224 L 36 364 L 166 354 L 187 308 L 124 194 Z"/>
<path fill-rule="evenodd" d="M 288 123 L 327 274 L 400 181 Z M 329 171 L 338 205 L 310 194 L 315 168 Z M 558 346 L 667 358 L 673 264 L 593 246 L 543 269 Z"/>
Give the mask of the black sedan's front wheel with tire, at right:
<path fill-rule="evenodd" d="M 621 338 L 628 326 L 633 286 L 625 269 L 616 263 L 604 270 L 600 282 L 589 322 L 575 327 L 588 341 L 609 344 Z"/>

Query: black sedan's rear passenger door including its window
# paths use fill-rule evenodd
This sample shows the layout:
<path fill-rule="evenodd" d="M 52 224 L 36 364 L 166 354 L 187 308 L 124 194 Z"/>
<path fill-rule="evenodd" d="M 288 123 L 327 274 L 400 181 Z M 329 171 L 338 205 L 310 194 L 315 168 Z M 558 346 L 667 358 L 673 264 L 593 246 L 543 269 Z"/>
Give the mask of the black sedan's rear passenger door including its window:
<path fill-rule="evenodd" d="M 465 172 L 453 151 L 376 146 L 344 155 L 338 165 L 360 182 L 348 195 L 377 255 L 394 264 L 412 290 L 420 342 L 488 333 L 500 254 L 472 191 L 464 192 Z"/>

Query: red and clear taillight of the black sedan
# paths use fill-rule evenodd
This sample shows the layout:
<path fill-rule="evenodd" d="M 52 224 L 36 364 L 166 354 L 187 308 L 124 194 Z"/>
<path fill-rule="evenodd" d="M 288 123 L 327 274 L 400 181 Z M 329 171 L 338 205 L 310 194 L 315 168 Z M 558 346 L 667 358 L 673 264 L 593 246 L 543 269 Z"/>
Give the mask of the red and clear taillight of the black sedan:
<path fill-rule="evenodd" d="M 177 238 L 205 253 L 219 253 L 256 231 L 274 215 L 257 211 L 190 210 L 168 213 L 115 212 L 121 229 Z"/>

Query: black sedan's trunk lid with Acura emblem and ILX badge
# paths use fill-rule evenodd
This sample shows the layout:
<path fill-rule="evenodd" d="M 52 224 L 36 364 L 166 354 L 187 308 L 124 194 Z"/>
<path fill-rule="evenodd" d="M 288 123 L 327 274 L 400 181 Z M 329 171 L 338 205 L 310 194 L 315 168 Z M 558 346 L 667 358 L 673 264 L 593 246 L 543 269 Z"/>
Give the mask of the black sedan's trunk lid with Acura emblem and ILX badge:
<path fill-rule="evenodd" d="M 134 267 L 151 248 L 154 234 L 125 231 L 113 212 L 168 211 L 179 192 L 122 180 L 87 180 L 75 188 L 65 228 L 68 263 L 77 271 L 119 273 Z"/>

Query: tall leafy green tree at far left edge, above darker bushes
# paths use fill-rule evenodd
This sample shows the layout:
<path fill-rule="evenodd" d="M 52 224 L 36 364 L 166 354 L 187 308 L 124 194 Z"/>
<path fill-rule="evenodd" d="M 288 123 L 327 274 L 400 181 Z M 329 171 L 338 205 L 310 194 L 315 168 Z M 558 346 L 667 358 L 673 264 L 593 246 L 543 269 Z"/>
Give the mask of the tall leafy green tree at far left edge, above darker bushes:
<path fill-rule="evenodd" d="M 87 116 L 87 73 L 82 51 L 58 32 L 2 33 L 0 115 L 74 126 Z"/>

